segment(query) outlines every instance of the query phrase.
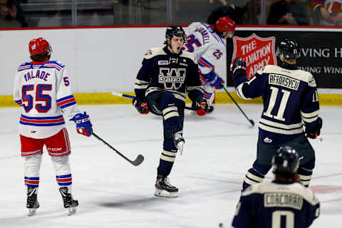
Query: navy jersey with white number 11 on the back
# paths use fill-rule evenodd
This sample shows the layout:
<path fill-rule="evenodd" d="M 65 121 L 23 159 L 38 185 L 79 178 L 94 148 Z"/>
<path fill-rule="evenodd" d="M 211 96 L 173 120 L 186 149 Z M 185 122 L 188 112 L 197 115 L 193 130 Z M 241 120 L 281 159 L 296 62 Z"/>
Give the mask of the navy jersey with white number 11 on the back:
<path fill-rule="evenodd" d="M 264 110 L 259 121 L 259 135 L 264 142 L 281 144 L 306 131 L 314 131 L 318 121 L 318 92 L 314 76 L 296 66 L 268 65 L 249 81 L 244 74 L 234 79 L 240 98 L 262 96 Z"/>

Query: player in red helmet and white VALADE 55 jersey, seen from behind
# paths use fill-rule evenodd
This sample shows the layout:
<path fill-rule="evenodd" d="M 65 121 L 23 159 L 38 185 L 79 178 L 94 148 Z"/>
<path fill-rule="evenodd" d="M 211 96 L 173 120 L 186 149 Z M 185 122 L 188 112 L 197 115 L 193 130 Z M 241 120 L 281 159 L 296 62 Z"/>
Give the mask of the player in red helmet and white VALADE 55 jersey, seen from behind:
<path fill-rule="evenodd" d="M 92 125 L 71 93 L 66 66 L 50 61 L 52 49 L 48 41 L 33 39 L 28 48 L 32 61 L 19 66 L 14 81 L 14 101 L 22 107 L 19 131 L 21 156 L 25 158 L 28 215 L 35 214 L 39 207 L 37 194 L 44 145 L 51 156 L 64 207 L 71 215 L 76 212 L 78 201 L 71 195 L 71 147 L 63 114 L 75 121 L 77 132 L 82 135 L 89 137 Z"/>

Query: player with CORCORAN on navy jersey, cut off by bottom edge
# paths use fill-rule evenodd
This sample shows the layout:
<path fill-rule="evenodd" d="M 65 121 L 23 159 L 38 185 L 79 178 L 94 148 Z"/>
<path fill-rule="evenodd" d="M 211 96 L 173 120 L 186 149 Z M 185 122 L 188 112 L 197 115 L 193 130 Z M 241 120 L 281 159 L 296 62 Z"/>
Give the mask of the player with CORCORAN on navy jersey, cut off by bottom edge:
<path fill-rule="evenodd" d="M 242 192 L 232 227 L 310 227 L 319 216 L 320 207 L 314 193 L 296 182 L 299 160 L 292 147 L 281 147 L 272 158 L 274 180 Z"/>

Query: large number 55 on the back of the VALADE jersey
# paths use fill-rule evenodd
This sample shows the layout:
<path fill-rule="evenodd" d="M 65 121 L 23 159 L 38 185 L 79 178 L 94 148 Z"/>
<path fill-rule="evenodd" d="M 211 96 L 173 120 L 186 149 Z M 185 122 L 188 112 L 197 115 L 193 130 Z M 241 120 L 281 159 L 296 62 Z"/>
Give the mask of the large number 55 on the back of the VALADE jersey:
<path fill-rule="evenodd" d="M 34 90 L 34 85 L 24 85 L 21 88 L 21 100 L 23 101 L 23 106 L 25 112 L 28 113 L 33 108 L 33 99 L 36 103 L 35 108 L 38 113 L 47 113 L 51 109 L 51 96 L 44 94 L 44 91 L 51 91 L 51 84 L 38 84 L 36 86 L 36 96 L 28 94 L 30 91 Z M 33 93 L 34 94 L 34 93 Z M 37 103 L 40 102 L 40 103 Z"/>

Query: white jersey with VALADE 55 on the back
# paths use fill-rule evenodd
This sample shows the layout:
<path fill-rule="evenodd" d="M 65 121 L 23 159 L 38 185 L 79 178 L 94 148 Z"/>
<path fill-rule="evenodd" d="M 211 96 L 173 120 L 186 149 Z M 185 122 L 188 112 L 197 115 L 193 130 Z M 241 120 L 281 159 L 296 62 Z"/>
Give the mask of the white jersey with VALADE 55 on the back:
<path fill-rule="evenodd" d="M 71 93 L 66 66 L 57 61 L 19 66 L 14 81 L 14 101 L 22 106 L 19 132 L 28 138 L 48 138 L 80 113 Z"/>

